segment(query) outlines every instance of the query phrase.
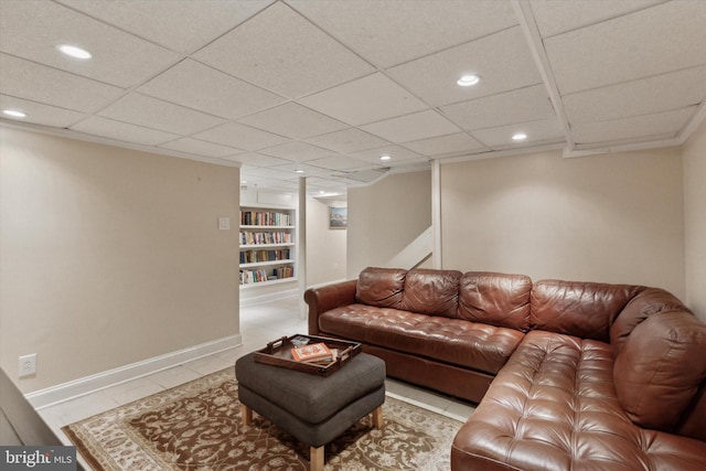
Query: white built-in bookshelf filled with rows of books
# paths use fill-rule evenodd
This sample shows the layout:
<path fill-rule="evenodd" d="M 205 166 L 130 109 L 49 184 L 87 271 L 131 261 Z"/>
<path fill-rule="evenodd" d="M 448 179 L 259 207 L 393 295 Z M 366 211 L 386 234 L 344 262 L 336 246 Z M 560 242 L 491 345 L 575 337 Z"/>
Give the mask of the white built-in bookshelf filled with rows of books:
<path fill-rule="evenodd" d="M 295 210 L 240 207 L 240 288 L 296 280 Z"/>

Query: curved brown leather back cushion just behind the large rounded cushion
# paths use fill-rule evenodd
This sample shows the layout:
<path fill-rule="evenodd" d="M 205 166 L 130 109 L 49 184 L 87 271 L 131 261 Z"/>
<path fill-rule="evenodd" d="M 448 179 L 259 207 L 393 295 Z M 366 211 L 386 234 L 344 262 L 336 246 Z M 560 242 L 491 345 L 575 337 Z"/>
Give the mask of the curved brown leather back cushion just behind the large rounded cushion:
<path fill-rule="evenodd" d="M 610 346 L 618 356 L 632 330 L 650 315 L 663 311 L 688 311 L 682 301 L 659 288 L 645 288 L 632 298 L 610 327 Z"/>

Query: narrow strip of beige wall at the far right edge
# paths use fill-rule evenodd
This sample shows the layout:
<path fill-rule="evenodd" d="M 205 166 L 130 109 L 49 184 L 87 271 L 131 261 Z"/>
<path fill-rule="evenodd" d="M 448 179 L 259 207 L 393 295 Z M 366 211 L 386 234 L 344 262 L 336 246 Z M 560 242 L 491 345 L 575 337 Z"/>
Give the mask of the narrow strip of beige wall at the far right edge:
<path fill-rule="evenodd" d="M 685 301 L 706 321 L 706 121 L 686 141 L 683 156 Z"/>

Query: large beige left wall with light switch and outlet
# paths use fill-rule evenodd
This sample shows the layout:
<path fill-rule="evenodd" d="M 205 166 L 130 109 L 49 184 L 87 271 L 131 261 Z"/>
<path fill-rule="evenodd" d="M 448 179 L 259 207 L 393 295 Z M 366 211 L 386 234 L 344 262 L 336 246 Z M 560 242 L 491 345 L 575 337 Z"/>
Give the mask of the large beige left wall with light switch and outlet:
<path fill-rule="evenodd" d="M 237 231 L 217 228 L 238 169 L 0 132 L 0 362 L 23 392 L 238 333 Z"/>

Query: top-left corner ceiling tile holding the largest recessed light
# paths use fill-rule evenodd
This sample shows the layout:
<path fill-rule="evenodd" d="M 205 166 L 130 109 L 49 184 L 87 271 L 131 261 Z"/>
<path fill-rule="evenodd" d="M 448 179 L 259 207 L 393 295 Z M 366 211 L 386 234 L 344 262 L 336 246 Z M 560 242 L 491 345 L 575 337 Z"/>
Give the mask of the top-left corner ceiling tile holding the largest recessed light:
<path fill-rule="evenodd" d="M 65 56 L 56 50 L 63 43 L 89 51 L 93 58 Z M 49 1 L 0 2 L 0 44 L 3 52 L 121 87 L 139 84 L 179 58 L 172 51 Z"/>

